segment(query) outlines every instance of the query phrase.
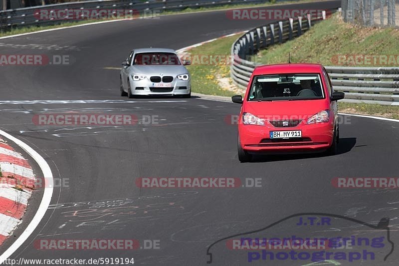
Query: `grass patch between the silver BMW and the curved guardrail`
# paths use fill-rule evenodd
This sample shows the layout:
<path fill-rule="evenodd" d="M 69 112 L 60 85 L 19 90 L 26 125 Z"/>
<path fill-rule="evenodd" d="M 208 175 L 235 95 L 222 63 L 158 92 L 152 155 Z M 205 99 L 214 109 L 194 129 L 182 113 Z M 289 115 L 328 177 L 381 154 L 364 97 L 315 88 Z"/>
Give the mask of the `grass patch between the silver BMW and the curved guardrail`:
<path fill-rule="evenodd" d="M 216 41 L 205 43 L 199 47 L 192 48 L 189 52 L 196 58 L 196 55 L 226 55 L 230 54 L 231 44 L 238 35 L 221 38 Z M 219 57 L 220 58 L 220 57 Z M 229 77 L 230 65 L 227 63 L 221 63 L 217 65 L 206 65 L 196 64 L 193 61 L 192 65 L 187 67 L 191 74 L 191 83 L 193 92 L 209 94 L 209 95 L 220 95 L 220 96 L 231 96 L 234 93 L 225 89 L 222 89 L 217 82 L 216 76 Z"/>

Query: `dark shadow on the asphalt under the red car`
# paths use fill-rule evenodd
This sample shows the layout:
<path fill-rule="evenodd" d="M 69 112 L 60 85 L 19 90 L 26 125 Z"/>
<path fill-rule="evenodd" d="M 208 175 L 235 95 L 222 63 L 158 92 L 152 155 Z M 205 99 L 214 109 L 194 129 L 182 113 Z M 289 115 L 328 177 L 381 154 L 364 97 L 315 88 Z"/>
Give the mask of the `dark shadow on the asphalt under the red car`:
<path fill-rule="evenodd" d="M 340 138 L 338 144 L 338 152 L 336 155 L 344 154 L 350 152 L 353 147 L 356 145 L 356 138 Z M 366 146 L 366 145 L 362 145 Z M 276 161 L 288 161 L 288 160 L 298 160 L 298 159 L 309 159 L 309 158 L 319 158 L 319 157 L 328 157 L 328 156 L 336 156 L 336 155 L 327 155 L 324 152 L 320 153 L 296 153 L 296 154 L 273 154 L 273 155 L 254 155 L 252 157 L 251 163 L 260 163 L 260 162 L 276 162 Z"/>

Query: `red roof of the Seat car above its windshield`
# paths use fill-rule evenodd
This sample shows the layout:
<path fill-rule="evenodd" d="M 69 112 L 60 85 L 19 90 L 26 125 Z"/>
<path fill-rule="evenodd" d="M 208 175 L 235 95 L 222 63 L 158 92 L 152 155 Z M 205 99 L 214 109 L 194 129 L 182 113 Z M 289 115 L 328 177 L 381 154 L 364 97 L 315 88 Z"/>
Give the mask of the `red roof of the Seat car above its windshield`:
<path fill-rule="evenodd" d="M 274 64 L 258 66 L 253 70 L 253 74 L 321 73 L 322 69 L 321 64 Z"/>

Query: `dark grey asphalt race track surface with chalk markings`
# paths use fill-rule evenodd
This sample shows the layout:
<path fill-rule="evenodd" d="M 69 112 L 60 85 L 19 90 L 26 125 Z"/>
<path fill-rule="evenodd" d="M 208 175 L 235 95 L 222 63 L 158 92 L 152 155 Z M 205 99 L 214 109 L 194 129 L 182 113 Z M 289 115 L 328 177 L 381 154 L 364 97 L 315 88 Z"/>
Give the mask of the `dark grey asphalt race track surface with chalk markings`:
<path fill-rule="evenodd" d="M 339 4 L 327 1 L 280 8 L 336 8 Z M 120 65 L 132 48 L 178 49 L 261 23 L 229 20 L 224 13 L 162 16 L 0 39 L 2 54 L 69 55 L 74 61 L 70 66 L 0 67 L 1 129 L 35 148 L 54 177 L 68 181 L 68 187 L 54 190 L 53 205 L 11 258 L 134 258 L 135 265 L 206 265 L 207 248 L 212 243 L 298 213 L 342 215 L 372 225 L 389 217 L 391 240 L 399 243 L 397 190 L 345 190 L 331 185 L 335 177 L 398 177 L 398 123 L 345 116 L 336 156 L 259 157 L 253 163 L 240 164 L 236 126 L 224 120 L 238 114 L 239 105 L 199 98 L 128 100 L 119 96 L 119 73 L 105 68 Z M 32 123 L 35 114 L 60 112 L 155 116 L 159 124 L 62 127 Z M 260 178 L 261 187 L 140 189 L 135 184 L 140 177 Z M 387 234 L 354 221 L 332 221 L 331 226 L 301 227 L 295 226 L 298 218 L 292 218 L 264 232 L 244 235 L 371 238 Z M 15 232 L 16 237 L 20 231 Z M 160 249 L 46 251 L 33 246 L 39 239 L 137 239 L 141 244 L 155 240 Z M 388 247 L 376 255 L 379 261 L 363 260 L 362 265 L 396 265 L 396 251 L 382 262 L 390 252 Z M 229 251 L 225 241 L 212 246 L 210 252 L 212 265 L 248 262 L 247 252 Z M 311 262 L 259 259 L 250 265 L 266 263 Z"/>

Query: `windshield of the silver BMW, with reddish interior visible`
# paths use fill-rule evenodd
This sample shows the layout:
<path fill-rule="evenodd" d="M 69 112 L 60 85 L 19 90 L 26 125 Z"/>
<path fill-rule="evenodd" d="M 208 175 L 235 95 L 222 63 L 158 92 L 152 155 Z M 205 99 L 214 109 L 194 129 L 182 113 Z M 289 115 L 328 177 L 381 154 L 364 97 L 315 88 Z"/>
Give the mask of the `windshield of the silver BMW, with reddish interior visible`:
<path fill-rule="evenodd" d="M 180 65 L 179 57 L 170 52 L 146 52 L 137 53 L 133 61 L 134 65 Z"/>

